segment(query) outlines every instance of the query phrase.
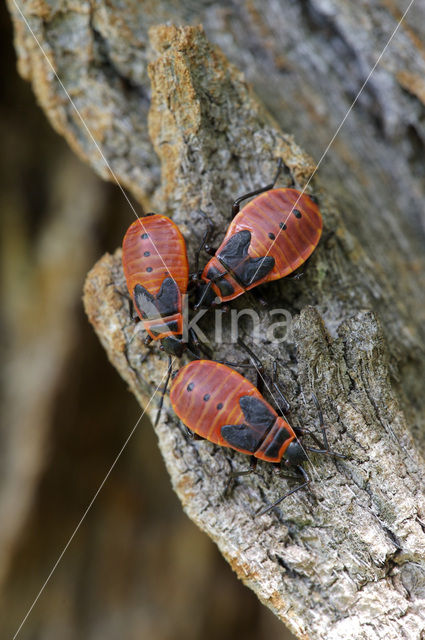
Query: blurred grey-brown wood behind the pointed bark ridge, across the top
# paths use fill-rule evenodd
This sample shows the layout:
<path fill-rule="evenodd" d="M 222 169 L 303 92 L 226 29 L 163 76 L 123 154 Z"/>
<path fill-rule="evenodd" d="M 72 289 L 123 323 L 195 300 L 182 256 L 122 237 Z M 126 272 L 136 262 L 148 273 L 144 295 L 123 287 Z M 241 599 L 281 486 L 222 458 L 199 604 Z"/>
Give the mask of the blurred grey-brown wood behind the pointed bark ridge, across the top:
<path fill-rule="evenodd" d="M 111 178 L 15 2 L 8 0 L 8 5 L 21 74 L 32 82 L 56 130 L 96 171 Z M 202 22 L 209 39 L 245 73 L 283 130 L 319 160 L 407 1 L 254 0 L 231 6 L 129 1 L 123 10 L 114 2 L 70 6 L 64 0 L 50 5 L 24 0 L 18 6 L 113 172 L 149 206 L 160 177 L 146 127 L 152 25 Z M 390 349 L 397 351 L 402 367 L 401 401 L 421 443 L 425 400 L 418 381 L 424 359 L 416 338 L 423 342 L 424 25 L 425 8 L 416 0 L 320 167 L 348 229 L 403 312 L 402 327 L 392 320 L 391 309 L 383 316 L 393 325 Z M 266 173 L 248 176 L 242 163 L 234 186 L 238 192 L 244 187 L 242 172 L 249 186 Z M 234 189 L 231 185 L 229 196 Z M 382 308 L 385 301 L 377 288 L 373 295 Z"/>

